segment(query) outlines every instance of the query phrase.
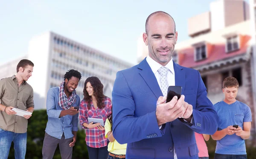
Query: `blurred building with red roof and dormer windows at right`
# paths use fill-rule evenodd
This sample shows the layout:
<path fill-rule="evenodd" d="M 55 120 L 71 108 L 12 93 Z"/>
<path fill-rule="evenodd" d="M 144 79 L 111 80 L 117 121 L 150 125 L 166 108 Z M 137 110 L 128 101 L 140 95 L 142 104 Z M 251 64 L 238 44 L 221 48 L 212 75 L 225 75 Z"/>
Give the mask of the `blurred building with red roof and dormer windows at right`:
<path fill-rule="evenodd" d="M 188 19 L 191 38 L 178 42 L 172 55 L 177 64 L 201 73 L 213 104 L 224 99 L 224 78 L 237 78 L 240 85 L 237 100 L 251 109 L 253 133 L 256 128 L 255 3 L 256 0 L 253 5 L 243 0 L 210 3 L 209 12 Z"/>

